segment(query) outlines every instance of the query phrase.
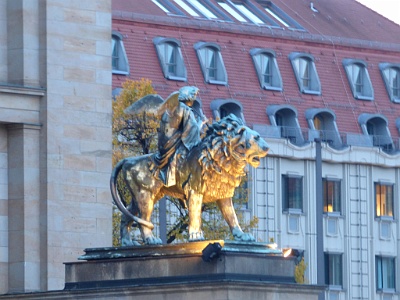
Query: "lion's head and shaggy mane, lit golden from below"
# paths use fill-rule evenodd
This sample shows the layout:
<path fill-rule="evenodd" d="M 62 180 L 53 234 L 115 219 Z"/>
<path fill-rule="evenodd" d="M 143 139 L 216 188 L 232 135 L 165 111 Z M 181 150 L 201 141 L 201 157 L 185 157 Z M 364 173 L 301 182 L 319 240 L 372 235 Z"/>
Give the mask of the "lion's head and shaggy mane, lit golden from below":
<path fill-rule="evenodd" d="M 234 115 L 213 123 L 199 158 L 206 193 L 216 198 L 232 197 L 246 165 L 258 167 L 268 150 L 267 142 Z"/>

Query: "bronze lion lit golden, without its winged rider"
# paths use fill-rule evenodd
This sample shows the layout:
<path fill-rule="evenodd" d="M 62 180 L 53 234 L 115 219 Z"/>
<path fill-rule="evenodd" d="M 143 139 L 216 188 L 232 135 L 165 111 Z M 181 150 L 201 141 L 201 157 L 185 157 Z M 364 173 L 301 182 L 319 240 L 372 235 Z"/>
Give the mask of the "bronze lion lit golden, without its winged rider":
<path fill-rule="evenodd" d="M 148 154 L 118 162 L 111 174 L 111 194 L 127 219 L 138 223 L 145 244 L 162 243 L 160 238 L 153 236 L 154 226 L 150 218 L 154 204 L 164 196 L 181 199 L 187 206 L 189 241 L 204 240 L 201 207 L 203 203 L 216 202 L 235 240 L 251 242 L 255 239 L 242 231 L 232 196 L 245 175 L 246 165 L 258 167 L 268 150 L 267 142 L 256 131 L 231 114 L 208 125 L 205 136 L 193 148 L 179 150 L 176 168 L 173 169 L 174 185 L 166 186 L 154 175 L 152 166 L 156 154 Z M 120 173 L 130 192 L 129 206 L 118 193 L 117 177 Z M 122 245 L 138 245 L 130 238 L 128 222 L 125 225 L 121 228 Z"/>

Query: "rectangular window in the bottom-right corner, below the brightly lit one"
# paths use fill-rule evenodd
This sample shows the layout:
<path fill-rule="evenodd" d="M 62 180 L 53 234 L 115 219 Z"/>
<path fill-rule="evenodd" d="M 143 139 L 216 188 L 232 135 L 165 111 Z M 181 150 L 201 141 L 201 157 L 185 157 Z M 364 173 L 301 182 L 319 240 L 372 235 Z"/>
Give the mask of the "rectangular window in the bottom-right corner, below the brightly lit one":
<path fill-rule="evenodd" d="M 395 258 L 376 256 L 376 289 L 378 291 L 394 291 L 395 286 Z"/>

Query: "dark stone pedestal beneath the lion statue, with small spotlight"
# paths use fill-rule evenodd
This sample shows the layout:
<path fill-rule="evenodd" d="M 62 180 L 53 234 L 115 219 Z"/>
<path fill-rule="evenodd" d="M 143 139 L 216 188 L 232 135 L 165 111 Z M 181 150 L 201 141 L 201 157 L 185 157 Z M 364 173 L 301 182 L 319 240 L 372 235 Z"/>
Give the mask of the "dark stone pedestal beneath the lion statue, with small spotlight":
<path fill-rule="evenodd" d="M 97 248 L 80 259 L 86 261 L 65 264 L 65 290 L 96 290 L 96 299 L 312 300 L 323 290 L 296 284 L 294 260 L 261 243 Z"/>

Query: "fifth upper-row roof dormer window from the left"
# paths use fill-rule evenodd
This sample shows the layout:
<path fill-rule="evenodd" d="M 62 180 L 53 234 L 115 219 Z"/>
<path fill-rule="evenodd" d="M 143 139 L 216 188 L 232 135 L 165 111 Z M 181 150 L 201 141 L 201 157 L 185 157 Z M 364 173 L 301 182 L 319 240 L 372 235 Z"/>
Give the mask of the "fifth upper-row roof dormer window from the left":
<path fill-rule="evenodd" d="M 315 68 L 314 58 L 307 53 L 293 52 L 289 55 L 297 84 L 302 93 L 321 94 L 321 83 Z"/>

